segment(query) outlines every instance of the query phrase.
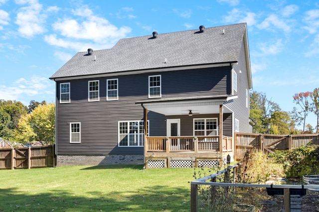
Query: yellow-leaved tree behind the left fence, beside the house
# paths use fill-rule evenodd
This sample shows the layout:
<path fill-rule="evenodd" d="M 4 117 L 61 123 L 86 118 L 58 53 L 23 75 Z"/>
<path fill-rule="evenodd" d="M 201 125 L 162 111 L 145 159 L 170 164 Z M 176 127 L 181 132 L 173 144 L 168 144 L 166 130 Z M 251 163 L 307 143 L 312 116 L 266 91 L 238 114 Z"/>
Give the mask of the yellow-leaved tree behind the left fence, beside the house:
<path fill-rule="evenodd" d="M 55 105 L 39 104 L 32 113 L 20 119 L 15 139 L 21 143 L 40 141 L 42 144 L 55 142 Z"/>

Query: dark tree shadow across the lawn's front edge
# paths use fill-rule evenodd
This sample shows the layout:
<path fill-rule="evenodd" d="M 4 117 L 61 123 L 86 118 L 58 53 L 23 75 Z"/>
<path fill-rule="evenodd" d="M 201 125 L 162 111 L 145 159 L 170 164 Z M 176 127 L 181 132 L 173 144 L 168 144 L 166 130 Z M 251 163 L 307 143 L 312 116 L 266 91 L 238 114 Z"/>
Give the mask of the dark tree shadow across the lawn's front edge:
<path fill-rule="evenodd" d="M 92 196 L 86 198 L 83 196 Z M 0 189 L 0 212 L 154 212 L 190 210 L 189 191 L 173 187 L 146 187 L 139 191 L 113 191 L 101 193 L 87 191 L 86 194 L 51 190 L 47 193 L 20 194 L 18 189 Z"/>

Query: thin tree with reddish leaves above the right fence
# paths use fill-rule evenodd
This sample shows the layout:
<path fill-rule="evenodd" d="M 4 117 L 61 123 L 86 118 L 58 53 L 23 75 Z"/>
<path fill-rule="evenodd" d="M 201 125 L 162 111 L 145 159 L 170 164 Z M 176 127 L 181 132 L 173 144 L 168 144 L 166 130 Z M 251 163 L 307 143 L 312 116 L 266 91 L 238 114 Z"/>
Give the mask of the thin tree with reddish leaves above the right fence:
<path fill-rule="evenodd" d="M 295 118 L 297 120 L 301 120 L 303 123 L 303 131 L 305 131 L 306 127 L 306 118 L 309 114 L 309 111 L 312 107 L 312 103 L 309 102 L 309 100 L 312 98 L 313 93 L 312 92 L 301 92 L 301 93 L 296 93 L 293 98 L 294 98 L 294 103 L 299 105 L 301 107 L 301 111 L 298 111 L 297 108 L 294 108 L 293 113 L 295 114 Z M 299 122 L 301 124 L 301 122 Z"/>

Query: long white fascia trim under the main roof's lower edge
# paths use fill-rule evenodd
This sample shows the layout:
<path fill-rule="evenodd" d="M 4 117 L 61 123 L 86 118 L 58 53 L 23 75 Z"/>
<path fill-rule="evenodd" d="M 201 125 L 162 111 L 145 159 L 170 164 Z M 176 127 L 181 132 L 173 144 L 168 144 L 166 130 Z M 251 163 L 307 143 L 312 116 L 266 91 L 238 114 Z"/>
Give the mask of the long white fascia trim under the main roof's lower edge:
<path fill-rule="evenodd" d="M 231 66 L 231 63 L 171 67 L 171 68 L 160 68 L 160 69 L 138 70 L 138 71 L 118 71 L 118 72 L 111 72 L 111 73 L 97 73 L 92 75 L 81 75 L 81 76 L 66 76 L 66 77 L 57 77 L 57 78 L 50 78 L 50 79 L 55 81 L 62 81 L 62 80 L 72 80 L 72 79 L 89 79 L 89 78 L 98 78 L 98 77 L 122 76 L 122 75 L 154 73 L 154 72 L 164 72 L 164 71 L 182 71 L 182 70 L 205 69 L 205 68 L 226 67 L 226 66 Z"/>

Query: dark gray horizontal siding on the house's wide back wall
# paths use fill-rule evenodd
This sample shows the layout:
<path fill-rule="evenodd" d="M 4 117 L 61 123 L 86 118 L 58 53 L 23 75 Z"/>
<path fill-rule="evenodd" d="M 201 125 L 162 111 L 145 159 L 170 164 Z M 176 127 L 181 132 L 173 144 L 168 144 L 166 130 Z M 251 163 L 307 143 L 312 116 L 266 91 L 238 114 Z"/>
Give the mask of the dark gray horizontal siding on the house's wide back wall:
<path fill-rule="evenodd" d="M 143 147 L 118 146 L 118 122 L 143 120 L 143 108 L 135 102 L 148 100 L 149 75 L 157 74 L 161 74 L 162 98 L 231 92 L 231 67 L 96 78 L 99 80 L 100 100 L 93 102 L 88 101 L 88 81 L 95 79 L 59 81 L 56 83 L 58 154 L 143 154 Z M 118 78 L 119 100 L 106 101 L 106 81 L 112 78 Z M 60 82 L 70 82 L 70 103 L 59 103 Z M 185 121 L 192 128 L 192 120 L 186 117 L 185 120 L 182 118 L 181 126 L 185 126 Z M 166 136 L 165 116 L 149 112 L 148 119 L 150 136 Z M 224 124 L 224 133 L 228 134 L 231 122 L 228 117 L 226 120 L 228 124 Z M 81 143 L 70 143 L 70 122 L 81 123 Z M 192 136 L 192 129 L 185 129 L 184 133 Z"/>

